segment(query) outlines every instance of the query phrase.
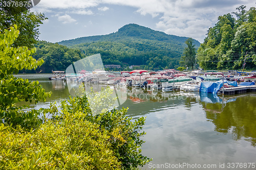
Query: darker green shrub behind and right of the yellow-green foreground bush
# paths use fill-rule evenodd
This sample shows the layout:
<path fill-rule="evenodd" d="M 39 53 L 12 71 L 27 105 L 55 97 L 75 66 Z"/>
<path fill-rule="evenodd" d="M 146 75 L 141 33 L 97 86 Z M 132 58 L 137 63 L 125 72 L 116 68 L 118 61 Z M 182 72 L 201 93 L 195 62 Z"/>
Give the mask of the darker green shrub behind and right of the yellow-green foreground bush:
<path fill-rule="evenodd" d="M 104 95 L 101 95 L 101 98 L 104 98 Z M 144 135 L 145 132 L 140 133 L 139 131 L 145 123 L 144 117 L 140 117 L 132 122 L 132 118 L 125 116 L 127 112 L 125 108 L 120 110 L 113 109 L 102 114 L 93 115 L 86 96 L 83 96 L 81 98 L 70 98 L 68 103 L 63 101 L 58 113 L 60 115 L 57 115 L 56 118 L 65 121 L 78 110 L 84 115 L 84 119 L 98 124 L 101 131 L 107 132 L 110 136 L 111 149 L 123 167 L 143 166 L 150 161 L 149 158 L 140 154 L 141 144 L 144 141 L 140 140 L 139 137 Z M 68 113 L 68 115 L 64 113 Z"/>

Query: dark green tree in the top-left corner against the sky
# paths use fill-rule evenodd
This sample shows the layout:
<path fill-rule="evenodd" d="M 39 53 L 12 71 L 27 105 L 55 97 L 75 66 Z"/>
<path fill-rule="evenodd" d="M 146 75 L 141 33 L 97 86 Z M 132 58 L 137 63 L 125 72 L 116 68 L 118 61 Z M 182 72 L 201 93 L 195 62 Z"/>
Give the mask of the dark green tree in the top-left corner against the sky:
<path fill-rule="evenodd" d="M 32 48 L 37 43 L 39 36 L 39 26 L 42 21 L 48 19 L 44 14 L 34 13 L 28 9 L 28 6 L 14 6 L 11 4 L 9 7 L 5 5 L 10 3 L 8 0 L 0 0 L 0 29 L 2 32 L 9 29 L 14 24 L 17 25 L 19 30 L 19 37 L 12 44 L 13 46 L 28 46 Z M 28 2 L 27 0 L 15 0 L 13 2 Z"/>

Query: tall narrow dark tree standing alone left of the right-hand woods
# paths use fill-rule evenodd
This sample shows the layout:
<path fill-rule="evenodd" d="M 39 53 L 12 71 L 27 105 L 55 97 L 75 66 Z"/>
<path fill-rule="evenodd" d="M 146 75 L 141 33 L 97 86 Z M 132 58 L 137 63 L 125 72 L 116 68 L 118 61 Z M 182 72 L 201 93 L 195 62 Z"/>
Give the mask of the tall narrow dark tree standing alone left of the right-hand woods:
<path fill-rule="evenodd" d="M 188 38 L 185 41 L 187 47 L 184 49 L 184 56 L 181 57 L 181 64 L 185 67 L 191 67 L 192 69 L 194 68 L 196 62 L 196 48 L 193 41 L 194 40 L 192 38 Z"/>

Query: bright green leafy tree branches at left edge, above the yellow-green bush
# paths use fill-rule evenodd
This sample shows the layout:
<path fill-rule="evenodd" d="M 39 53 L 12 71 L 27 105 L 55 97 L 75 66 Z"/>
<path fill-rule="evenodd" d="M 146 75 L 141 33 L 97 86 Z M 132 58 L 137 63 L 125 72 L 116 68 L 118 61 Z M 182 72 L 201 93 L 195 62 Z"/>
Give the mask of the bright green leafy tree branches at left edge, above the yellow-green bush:
<path fill-rule="evenodd" d="M 42 120 L 38 118 L 39 111 L 23 111 L 23 107 L 15 107 L 20 101 L 37 103 L 39 100 L 46 101 L 50 93 L 46 93 L 38 81 L 29 82 L 24 79 L 17 79 L 13 73 L 19 70 L 35 69 L 44 61 L 36 61 L 31 55 L 36 49 L 28 49 L 26 46 L 12 47 L 17 39 L 19 31 L 17 26 L 10 27 L 0 34 L 0 121 L 13 126 L 34 127 Z"/>

